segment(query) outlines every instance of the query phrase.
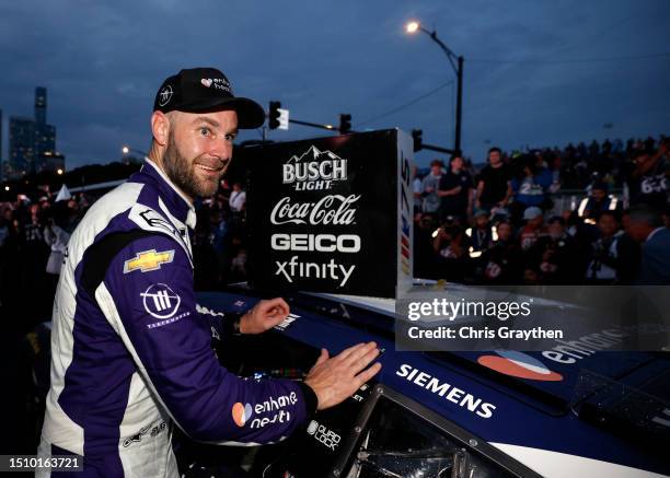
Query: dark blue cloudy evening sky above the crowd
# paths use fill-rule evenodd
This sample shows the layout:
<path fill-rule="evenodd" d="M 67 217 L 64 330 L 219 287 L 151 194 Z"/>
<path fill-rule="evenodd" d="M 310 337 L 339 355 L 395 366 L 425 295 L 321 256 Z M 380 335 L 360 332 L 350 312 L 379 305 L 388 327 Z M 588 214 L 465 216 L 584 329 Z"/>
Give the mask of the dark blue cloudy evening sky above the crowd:
<path fill-rule="evenodd" d="M 465 59 L 462 141 L 475 163 L 492 145 L 670 133 L 668 0 L 23 0 L 0 4 L 0 154 L 35 86 L 48 89 L 67 168 L 147 150 L 162 81 L 206 66 L 291 118 L 337 125 L 348 113 L 354 129 L 421 129 L 452 148 L 455 74 L 428 35 L 404 32 L 411 19 Z M 291 125 L 268 138 L 328 135 Z"/>

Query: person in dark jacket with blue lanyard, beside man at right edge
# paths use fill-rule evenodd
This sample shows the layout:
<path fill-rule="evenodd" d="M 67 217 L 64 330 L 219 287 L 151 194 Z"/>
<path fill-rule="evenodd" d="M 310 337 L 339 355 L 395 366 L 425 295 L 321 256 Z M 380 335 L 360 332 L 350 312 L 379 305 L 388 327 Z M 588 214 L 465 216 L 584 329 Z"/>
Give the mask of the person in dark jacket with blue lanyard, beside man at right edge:
<path fill-rule="evenodd" d="M 590 283 L 632 283 L 639 268 L 639 245 L 622 229 L 617 213 L 605 210 L 598 219 L 600 238 L 593 243 L 586 279 Z"/>

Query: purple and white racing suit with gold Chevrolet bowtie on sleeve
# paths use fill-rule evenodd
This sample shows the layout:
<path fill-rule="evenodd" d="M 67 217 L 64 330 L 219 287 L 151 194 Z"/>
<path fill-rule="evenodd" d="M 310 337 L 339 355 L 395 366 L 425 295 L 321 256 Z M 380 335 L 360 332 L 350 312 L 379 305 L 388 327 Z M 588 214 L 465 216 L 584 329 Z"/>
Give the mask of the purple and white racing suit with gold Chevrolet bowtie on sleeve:
<path fill-rule="evenodd" d="M 302 382 L 244 380 L 219 364 L 210 327 L 227 317 L 196 304 L 194 226 L 190 202 L 147 160 L 70 238 L 38 454 L 81 455 L 72 476 L 176 477 L 172 423 L 203 442 L 264 444 L 316 408 Z"/>

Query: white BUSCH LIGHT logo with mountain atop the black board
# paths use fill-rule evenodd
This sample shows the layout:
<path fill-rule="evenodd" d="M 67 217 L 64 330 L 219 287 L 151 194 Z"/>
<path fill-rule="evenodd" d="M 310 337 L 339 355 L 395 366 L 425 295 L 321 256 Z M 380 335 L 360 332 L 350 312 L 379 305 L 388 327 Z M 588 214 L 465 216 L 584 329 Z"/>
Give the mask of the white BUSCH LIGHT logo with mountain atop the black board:
<path fill-rule="evenodd" d="M 282 182 L 294 190 L 327 190 L 347 179 L 347 160 L 331 151 L 311 147 L 300 158 L 291 156 L 282 165 Z"/>

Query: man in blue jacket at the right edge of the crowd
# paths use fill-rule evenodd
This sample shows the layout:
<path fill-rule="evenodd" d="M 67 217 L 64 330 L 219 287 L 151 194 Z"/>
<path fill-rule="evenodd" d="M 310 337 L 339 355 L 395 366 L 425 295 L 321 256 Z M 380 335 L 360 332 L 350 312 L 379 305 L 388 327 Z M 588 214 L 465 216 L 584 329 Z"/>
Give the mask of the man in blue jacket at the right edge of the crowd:
<path fill-rule="evenodd" d="M 627 215 L 626 233 L 642 244 L 642 261 L 636 282 L 670 283 L 670 230 L 663 226 L 660 214 L 646 205 L 631 208 Z"/>

